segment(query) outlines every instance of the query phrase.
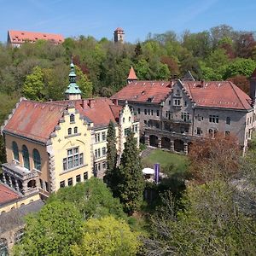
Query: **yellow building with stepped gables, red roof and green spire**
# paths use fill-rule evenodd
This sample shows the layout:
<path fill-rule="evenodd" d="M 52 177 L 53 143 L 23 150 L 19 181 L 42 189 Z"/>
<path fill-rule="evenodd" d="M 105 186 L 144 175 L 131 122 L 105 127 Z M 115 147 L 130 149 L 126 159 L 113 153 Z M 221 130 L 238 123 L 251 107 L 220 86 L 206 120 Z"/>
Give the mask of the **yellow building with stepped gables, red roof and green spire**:
<path fill-rule="evenodd" d="M 102 177 L 110 120 L 119 156 L 129 129 L 139 140 L 139 122 L 127 103 L 120 107 L 107 98 L 81 99 L 73 63 L 69 80 L 66 101 L 21 98 L 2 127 L 7 163 L 2 165 L 1 180 L 23 198 L 38 193 L 47 197 L 93 175 Z"/>

